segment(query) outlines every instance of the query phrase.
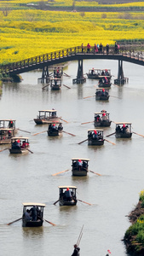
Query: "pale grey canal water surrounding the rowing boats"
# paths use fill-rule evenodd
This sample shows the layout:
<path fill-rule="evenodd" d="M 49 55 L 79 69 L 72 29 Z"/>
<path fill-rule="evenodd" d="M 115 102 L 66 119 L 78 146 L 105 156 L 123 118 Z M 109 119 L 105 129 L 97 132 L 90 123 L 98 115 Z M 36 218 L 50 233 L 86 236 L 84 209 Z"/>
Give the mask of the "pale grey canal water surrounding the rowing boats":
<path fill-rule="evenodd" d="M 111 68 L 112 83 L 118 74 L 118 61 L 84 61 L 84 73 L 89 68 Z M 143 67 L 124 62 L 124 75 L 129 84 L 118 87 L 112 85 L 108 102 L 95 101 L 97 80 L 87 79 L 85 84 L 72 84 L 76 78 L 78 62 L 70 62 L 64 72 L 71 77 L 63 77 L 60 91 L 42 90 L 37 83 L 41 71 L 21 74 L 20 84 L 3 84 L 0 99 L 0 119 L 16 119 L 21 130 L 18 136 L 29 137 L 33 154 L 12 155 L 9 150 L 0 153 L 0 255 L 72 255 L 73 245 L 84 225 L 80 242 L 82 256 L 105 256 L 107 249 L 112 256 L 126 256 L 122 241 L 129 228 L 127 218 L 139 200 L 144 189 L 143 150 L 144 137 L 133 134 L 131 139 L 107 137 L 101 147 L 89 147 L 87 130 L 93 124 L 94 113 L 106 109 L 112 121 L 132 122 L 133 131 L 144 135 Z M 35 125 L 38 110 L 55 108 L 58 116 L 65 119 L 62 137 L 48 137 L 47 125 Z M 115 124 L 104 129 L 104 135 L 115 130 Z M 3 149 L 7 146 L 1 146 Z M 88 158 L 87 177 L 72 177 L 72 158 Z M 57 176 L 56 172 L 65 171 Z M 53 203 L 58 200 L 60 185 L 77 186 L 78 201 L 75 207 L 60 207 Z M 21 221 L 9 222 L 22 216 L 22 202 L 45 203 L 44 218 L 56 224 L 43 222 L 41 228 L 22 228 Z"/>

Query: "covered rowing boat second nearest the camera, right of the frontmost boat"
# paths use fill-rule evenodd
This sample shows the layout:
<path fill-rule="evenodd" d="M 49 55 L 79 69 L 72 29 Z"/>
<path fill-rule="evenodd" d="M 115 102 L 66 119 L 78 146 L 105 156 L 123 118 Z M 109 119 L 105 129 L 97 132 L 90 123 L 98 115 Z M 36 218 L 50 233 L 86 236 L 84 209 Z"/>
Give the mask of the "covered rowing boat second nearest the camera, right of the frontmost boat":
<path fill-rule="evenodd" d="M 76 206 L 77 195 L 75 186 L 59 186 L 59 204 L 60 206 Z M 70 192 L 69 192 L 70 191 Z M 69 194 L 70 193 L 70 194 Z"/>

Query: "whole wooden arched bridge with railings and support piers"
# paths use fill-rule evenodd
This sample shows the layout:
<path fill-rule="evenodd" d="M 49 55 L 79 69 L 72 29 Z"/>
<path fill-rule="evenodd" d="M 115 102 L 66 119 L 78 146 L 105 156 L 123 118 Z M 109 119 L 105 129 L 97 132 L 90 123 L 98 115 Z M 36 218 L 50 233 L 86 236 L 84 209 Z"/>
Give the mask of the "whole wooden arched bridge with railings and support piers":
<path fill-rule="evenodd" d="M 107 59 L 118 60 L 118 78 L 122 79 L 123 73 L 123 61 L 128 61 L 141 66 L 144 66 L 144 52 L 136 51 L 132 47 L 120 47 L 116 52 L 114 47 L 110 47 L 107 53 L 106 48 L 103 48 L 101 53 L 95 53 L 94 47 L 89 49 L 84 47 L 84 51 L 81 46 L 76 46 L 68 49 L 60 49 L 54 52 L 50 52 L 43 55 L 37 55 L 32 58 L 28 58 L 22 61 L 16 61 L 7 65 L 0 66 L 1 74 L 19 74 L 32 71 L 34 69 L 43 69 L 43 77 L 49 76 L 49 66 L 60 64 L 66 61 L 78 61 L 78 78 L 83 77 L 83 60 L 89 59 Z"/>

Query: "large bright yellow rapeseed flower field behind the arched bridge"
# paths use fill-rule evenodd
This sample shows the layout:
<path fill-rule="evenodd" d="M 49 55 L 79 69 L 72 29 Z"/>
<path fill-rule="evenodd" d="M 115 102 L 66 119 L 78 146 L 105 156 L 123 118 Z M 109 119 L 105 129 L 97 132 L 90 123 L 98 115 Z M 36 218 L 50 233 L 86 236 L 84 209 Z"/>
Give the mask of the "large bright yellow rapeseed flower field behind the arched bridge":
<path fill-rule="evenodd" d="M 104 14 L 105 18 L 102 18 Z M 120 12 L 81 14 L 38 9 L 12 10 L 8 16 L 0 15 L 0 63 L 20 61 L 82 43 L 102 43 L 105 46 L 121 39 L 144 39 L 144 14 L 124 15 Z"/>

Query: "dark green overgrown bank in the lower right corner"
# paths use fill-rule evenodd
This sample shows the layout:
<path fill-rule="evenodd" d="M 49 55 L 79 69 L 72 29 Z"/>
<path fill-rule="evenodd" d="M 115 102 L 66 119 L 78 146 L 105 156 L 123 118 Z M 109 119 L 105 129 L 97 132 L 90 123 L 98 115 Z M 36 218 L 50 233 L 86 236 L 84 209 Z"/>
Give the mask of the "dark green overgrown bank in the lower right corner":
<path fill-rule="evenodd" d="M 144 190 L 135 209 L 128 215 L 131 226 L 124 235 L 127 253 L 131 256 L 144 255 Z"/>

